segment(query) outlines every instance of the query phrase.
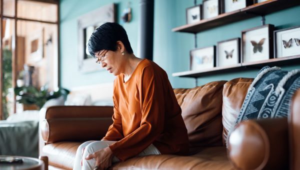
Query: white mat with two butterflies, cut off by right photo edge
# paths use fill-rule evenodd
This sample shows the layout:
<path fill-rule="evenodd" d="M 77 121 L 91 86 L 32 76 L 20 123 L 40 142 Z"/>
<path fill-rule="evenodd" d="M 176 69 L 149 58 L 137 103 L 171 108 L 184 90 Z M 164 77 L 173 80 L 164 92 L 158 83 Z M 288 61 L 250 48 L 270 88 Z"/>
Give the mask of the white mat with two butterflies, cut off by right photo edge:
<path fill-rule="evenodd" d="M 290 47 L 284 48 L 282 40 L 288 41 L 290 38 L 292 38 Z M 300 27 L 276 32 L 276 57 L 300 54 L 300 46 L 296 45 L 294 38 L 300 39 Z"/>

